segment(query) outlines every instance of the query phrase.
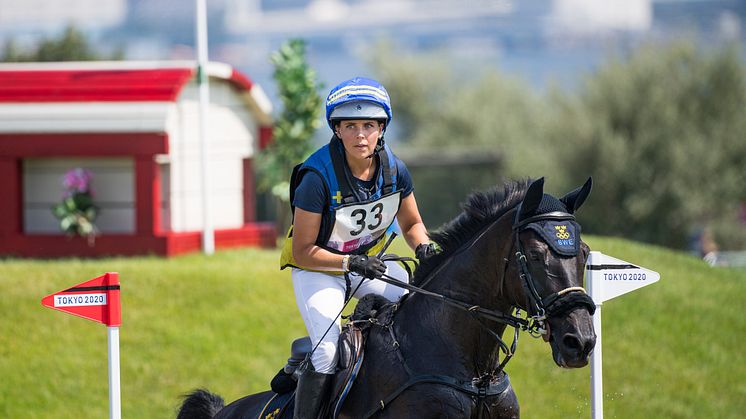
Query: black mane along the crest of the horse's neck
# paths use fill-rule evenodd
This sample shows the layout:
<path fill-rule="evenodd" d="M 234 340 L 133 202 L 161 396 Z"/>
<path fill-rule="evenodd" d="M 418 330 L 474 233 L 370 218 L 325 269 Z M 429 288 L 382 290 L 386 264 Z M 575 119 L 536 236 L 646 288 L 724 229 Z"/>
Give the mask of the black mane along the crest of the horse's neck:
<path fill-rule="evenodd" d="M 463 211 L 437 231 L 430 239 L 438 244 L 440 252 L 423 262 L 414 273 L 413 283 L 419 284 L 438 265 L 484 227 L 518 205 L 531 184 L 528 179 L 509 181 L 502 188 L 495 186 L 487 191 L 474 192 L 461 207 Z"/>

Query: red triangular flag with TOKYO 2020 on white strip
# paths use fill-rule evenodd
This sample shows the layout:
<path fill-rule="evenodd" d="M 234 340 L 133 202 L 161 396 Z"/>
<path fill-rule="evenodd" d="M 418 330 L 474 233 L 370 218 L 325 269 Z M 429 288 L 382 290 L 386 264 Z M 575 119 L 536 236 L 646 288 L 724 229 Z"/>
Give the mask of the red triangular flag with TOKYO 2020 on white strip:
<path fill-rule="evenodd" d="M 72 288 L 47 295 L 41 303 L 46 307 L 107 326 L 122 324 L 119 274 L 116 272 L 107 272 Z"/>

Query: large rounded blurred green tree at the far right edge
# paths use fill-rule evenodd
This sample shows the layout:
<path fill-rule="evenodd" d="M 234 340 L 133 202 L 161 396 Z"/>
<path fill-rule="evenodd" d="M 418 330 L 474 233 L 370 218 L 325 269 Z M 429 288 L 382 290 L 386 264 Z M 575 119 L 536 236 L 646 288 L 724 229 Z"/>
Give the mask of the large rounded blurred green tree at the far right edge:
<path fill-rule="evenodd" d="M 552 100 L 549 139 L 566 144 L 568 176 L 596 181 L 583 208 L 593 232 L 682 248 L 693 231 L 727 225 L 729 245 L 746 244 L 735 217 L 746 197 L 737 49 L 646 45 L 587 77 L 577 96 Z"/>

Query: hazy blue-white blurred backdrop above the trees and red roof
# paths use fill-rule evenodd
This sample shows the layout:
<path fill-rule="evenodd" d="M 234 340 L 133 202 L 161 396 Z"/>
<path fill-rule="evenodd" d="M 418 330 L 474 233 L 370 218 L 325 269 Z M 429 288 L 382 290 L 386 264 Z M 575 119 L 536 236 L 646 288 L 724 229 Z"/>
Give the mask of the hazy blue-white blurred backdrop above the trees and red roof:
<path fill-rule="evenodd" d="M 194 0 L 0 0 L 0 41 L 33 45 L 73 23 L 128 60 L 193 59 Z M 302 37 L 327 85 L 368 75 L 385 39 L 406 54 L 494 66 L 537 89 L 572 87 L 610 53 L 695 33 L 744 40 L 743 0 L 208 0 L 210 58 L 273 94 L 270 54 Z"/>

